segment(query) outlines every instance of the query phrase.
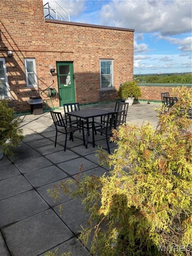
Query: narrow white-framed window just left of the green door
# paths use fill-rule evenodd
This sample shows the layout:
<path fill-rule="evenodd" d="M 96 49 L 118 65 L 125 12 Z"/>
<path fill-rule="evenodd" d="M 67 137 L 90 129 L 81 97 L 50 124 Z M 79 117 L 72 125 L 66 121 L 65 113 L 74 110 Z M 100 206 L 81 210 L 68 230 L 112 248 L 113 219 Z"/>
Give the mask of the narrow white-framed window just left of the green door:
<path fill-rule="evenodd" d="M 24 59 L 27 87 L 37 86 L 35 59 Z"/>

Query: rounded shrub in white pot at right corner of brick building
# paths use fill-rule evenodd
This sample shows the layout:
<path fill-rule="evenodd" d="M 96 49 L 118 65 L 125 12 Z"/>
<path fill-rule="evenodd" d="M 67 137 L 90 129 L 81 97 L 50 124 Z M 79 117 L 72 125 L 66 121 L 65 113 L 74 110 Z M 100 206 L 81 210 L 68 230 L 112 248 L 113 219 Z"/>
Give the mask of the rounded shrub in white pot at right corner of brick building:
<path fill-rule="evenodd" d="M 118 96 L 123 98 L 129 105 L 133 104 L 135 98 L 142 96 L 141 89 L 135 81 L 125 82 L 120 86 Z"/>

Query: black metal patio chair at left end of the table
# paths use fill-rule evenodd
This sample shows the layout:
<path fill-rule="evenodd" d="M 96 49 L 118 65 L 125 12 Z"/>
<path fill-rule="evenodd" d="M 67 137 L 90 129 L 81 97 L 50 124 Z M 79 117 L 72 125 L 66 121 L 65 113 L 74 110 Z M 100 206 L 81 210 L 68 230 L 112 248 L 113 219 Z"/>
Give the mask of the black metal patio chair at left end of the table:
<path fill-rule="evenodd" d="M 71 117 L 68 117 L 67 119 L 69 121 L 67 121 L 66 124 L 66 119 L 62 117 L 61 112 L 56 112 L 56 111 L 51 111 L 51 116 L 53 119 L 53 123 L 55 125 L 55 129 L 56 129 L 56 135 L 55 135 L 55 147 L 57 144 L 57 133 L 63 133 L 65 134 L 65 145 L 64 145 L 64 151 L 66 149 L 66 144 L 67 144 L 67 134 L 70 134 L 69 140 L 73 141 L 73 133 L 76 131 L 79 131 L 80 129 L 82 129 L 83 132 L 83 145 L 85 146 L 85 135 L 84 135 L 84 129 L 83 129 L 83 121 L 77 121 L 77 122 L 71 122 Z M 74 125 L 77 126 L 74 126 Z M 62 129 L 58 129 L 58 128 L 62 128 Z"/>

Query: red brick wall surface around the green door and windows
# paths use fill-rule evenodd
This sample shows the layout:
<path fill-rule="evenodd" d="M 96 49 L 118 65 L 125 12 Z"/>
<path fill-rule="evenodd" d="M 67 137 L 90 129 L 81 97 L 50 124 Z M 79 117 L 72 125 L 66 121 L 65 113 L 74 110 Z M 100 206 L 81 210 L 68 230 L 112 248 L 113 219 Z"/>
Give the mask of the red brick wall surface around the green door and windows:
<path fill-rule="evenodd" d="M 0 9 L 0 57 L 6 60 L 10 104 L 15 111 L 30 110 L 29 97 L 40 95 L 53 79 L 52 87 L 58 91 L 57 76 L 50 74 L 49 67 L 56 69 L 56 61 L 73 61 L 80 104 L 115 100 L 119 85 L 133 79 L 133 31 L 45 22 L 41 0 L 2 0 Z M 13 52 L 12 57 L 7 50 Z M 26 87 L 24 58 L 35 58 L 38 88 Z M 116 90 L 100 90 L 100 59 L 113 59 Z M 59 106 L 58 96 L 52 104 Z"/>

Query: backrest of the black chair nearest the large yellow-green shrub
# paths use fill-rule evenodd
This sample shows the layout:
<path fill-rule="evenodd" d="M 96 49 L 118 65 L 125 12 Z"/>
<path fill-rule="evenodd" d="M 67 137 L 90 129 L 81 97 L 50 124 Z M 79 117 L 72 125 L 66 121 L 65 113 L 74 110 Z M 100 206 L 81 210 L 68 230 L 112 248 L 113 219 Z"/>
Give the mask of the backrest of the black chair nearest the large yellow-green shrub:
<path fill-rule="evenodd" d="M 125 109 L 108 113 L 107 128 L 116 129 L 120 124 L 125 122 Z"/>

